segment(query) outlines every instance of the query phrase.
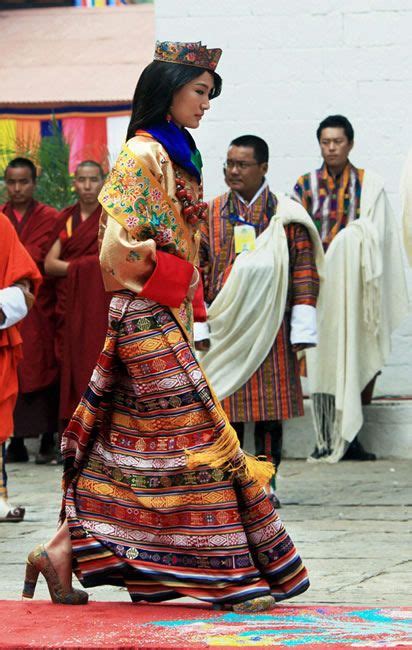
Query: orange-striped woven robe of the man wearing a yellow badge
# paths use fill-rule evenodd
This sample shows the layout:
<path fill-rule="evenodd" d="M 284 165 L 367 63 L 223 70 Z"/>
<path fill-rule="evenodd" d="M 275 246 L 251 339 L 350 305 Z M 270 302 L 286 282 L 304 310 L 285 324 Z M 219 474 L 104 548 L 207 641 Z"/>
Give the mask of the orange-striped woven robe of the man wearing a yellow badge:
<path fill-rule="evenodd" d="M 255 225 L 256 236 L 269 223 L 276 210 L 276 197 L 266 188 L 248 207 L 233 193 L 210 203 L 209 223 L 203 228 L 200 248 L 205 297 L 213 302 L 235 260 L 234 225 L 231 215 L 240 215 Z M 311 240 L 299 224 L 286 228 L 289 248 L 290 280 L 284 321 L 275 343 L 260 368 L 244 386 L 223 400 L 231 422 L 288 420 L 303 415 L 302 388 L 296 355 L 290 344 L 290 315 L 295 304 L 316 305 L 319 280 Z"/>

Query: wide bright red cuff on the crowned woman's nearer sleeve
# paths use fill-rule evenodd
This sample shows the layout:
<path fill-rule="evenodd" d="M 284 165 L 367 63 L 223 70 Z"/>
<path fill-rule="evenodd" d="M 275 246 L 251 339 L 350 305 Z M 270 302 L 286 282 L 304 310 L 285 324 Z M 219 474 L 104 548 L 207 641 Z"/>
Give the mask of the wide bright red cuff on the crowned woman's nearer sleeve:
<path fill-rule="evenodd" d="M 193 264 L 176 255 L 156 251 L 155 269 L 139 295 L 167 307 L 180 307 L 189 291 Z"/>

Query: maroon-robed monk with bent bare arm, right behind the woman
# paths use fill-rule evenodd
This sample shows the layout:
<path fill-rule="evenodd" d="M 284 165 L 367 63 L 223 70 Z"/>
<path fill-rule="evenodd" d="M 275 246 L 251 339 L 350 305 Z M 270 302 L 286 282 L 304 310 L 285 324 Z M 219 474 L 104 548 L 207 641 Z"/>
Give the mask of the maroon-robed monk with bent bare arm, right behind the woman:
<path fill-rule="evenodd" d="M 60 420 L 70 419 L 87 388 L 103 347 L 110 296 L 105 292 L 98 254 L 104 174 L 94 161 L 76 169 L 78 203 L 63 210 L 45 270 L 56 278 L 55 351 L 61 368 Z"/>

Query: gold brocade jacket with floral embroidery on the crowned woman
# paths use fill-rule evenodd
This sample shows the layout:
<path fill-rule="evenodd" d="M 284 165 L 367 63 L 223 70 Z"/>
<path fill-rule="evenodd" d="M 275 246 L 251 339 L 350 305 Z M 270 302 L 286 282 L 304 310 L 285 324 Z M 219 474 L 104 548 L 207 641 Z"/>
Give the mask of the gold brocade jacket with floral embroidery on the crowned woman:
<path fill-rule="evenodd" d="M 202 188 L 196 179 L 181 168 L 179 174 L 193 200 L 200 200 Z M 198 264 L 198 227 L 183 217 L 172 161 L 149 134 L 135 136 L 123 146 L 99 201 L 104 210 L 100 263 L 108 291 L 126 288 L 139 294 L 155 267 L 156 249 Z M 170 309 L 191 338 L 191 302 Z"/>

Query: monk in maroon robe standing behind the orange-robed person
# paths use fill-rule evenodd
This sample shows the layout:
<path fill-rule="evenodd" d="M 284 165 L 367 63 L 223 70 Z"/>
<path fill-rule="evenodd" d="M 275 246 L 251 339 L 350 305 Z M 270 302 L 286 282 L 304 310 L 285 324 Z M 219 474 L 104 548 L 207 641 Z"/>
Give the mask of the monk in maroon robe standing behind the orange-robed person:
<path fill-rule="evenodd" d="M 33 199 L 36 167 L 27 158 L 15 158 L 6 167 L 5 184 L 8 201 L 0 210 L 15 227 L 43 274 L 45 255 L 58 212 Z M 36 462 L 54 456 L 54 433 L 57 430 L 58 365 L 54 355 L 54 309 L 50 280 L 45 280 L 36 303 L 21 326 L 23 361 L 19 365 L 19 397 L 14 412 L 14 437 L 7 450 L 7 460 L 28 460 L 24 438 L 41 437 Z"/>

